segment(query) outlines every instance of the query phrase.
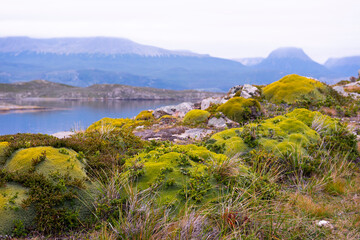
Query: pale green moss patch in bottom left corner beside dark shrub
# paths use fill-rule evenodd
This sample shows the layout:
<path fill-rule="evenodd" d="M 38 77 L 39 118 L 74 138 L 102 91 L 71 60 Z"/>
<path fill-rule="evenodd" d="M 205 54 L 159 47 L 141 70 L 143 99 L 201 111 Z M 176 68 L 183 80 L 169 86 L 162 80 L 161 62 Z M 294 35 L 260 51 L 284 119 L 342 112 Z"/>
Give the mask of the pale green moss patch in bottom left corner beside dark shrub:
<path fill-rule="evenodd" d="M 24 209 L 21 203 L 27 196 L 27 189 L 16 184 L 7 183 L 0 187 L 0 234 L 11 234 L 14 220 L 20 220 L 24 225 L 33 223 L 35 212 L 32 208 Z"/>

